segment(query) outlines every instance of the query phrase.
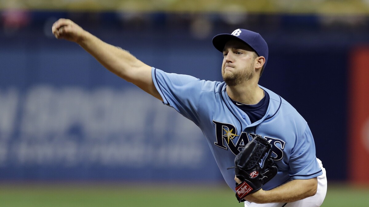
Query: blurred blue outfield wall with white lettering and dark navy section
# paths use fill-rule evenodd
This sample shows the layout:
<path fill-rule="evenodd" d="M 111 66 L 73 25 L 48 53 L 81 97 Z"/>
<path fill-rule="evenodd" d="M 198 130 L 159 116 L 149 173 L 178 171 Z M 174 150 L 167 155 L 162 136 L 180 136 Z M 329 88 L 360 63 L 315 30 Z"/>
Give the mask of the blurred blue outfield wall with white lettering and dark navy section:
<path fill-rule="evenodd" d="M 68 15 L 35 13 L 29 26 L 0 33 L 1 180 L 222 180 L 195 124 L 78 45 L 45 35 L 50 17 Z M 216 24 L 196 39 L 186 25 L 173 29 L 158 17 L 137 28 L 104 17 L 75 21 L 146 64 L 206 80 L 221 80 L 222 56 L 211 38 L 248 28 Z M 345 180 L 349 49 L 368 38 L 321 29 L 314 18 L 284 18 L 278 28 L 248 28 L 269 43 L 260 84 L 307 120 L 328 179 Z"/>

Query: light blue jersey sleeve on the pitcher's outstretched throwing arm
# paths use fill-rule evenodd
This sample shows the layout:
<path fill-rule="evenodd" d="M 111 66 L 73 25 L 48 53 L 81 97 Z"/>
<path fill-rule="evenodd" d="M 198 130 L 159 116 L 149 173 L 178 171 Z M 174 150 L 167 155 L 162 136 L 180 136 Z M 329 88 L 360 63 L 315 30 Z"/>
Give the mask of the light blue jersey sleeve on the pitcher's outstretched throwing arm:
<path fill-rule="evenodd" d="M 204 81 L 193 76 L 166 73 L 154 67 L 151 75 L 163 103 L 199 125 L 199 98 Z"/>

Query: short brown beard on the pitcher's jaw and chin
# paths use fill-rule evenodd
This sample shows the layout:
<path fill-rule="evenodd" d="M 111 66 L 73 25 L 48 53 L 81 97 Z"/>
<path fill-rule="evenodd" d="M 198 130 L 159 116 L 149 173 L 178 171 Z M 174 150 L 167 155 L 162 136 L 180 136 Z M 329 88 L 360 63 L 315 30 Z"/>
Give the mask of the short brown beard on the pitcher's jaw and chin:
<path fill-rule="evenodd" d="M 229 86 L 235 86 L 245 81 L 250 80 L 254 77 L 255 72 L 252 70 L 253 65 L 246 66 L 244 70 L 239 71 L 238 73 L 222 73 L 224 82 Z"/>

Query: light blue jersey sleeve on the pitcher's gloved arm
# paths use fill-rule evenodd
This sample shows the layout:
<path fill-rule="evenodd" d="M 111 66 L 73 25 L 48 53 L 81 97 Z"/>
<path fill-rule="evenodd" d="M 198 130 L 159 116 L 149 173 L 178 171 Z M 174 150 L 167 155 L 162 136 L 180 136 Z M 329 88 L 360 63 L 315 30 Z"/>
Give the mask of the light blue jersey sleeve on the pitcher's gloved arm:
<path fill-rule="evenodd" d="M 307 124 L 295 143 L 289 165 L 291 179 L 311 179 L 323 174 L 315 155 L 314 138 Z"/>

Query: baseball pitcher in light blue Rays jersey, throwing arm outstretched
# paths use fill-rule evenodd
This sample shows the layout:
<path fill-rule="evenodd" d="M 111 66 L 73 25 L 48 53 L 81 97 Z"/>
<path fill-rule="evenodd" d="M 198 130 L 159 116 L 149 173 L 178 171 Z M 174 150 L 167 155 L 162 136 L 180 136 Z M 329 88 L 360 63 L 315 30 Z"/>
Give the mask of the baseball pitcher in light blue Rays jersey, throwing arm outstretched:
<path fill-rule="evenodd" d="M 71 20 L 56 21 L 52 32 L 199 126 L 235 202 L 250 207 L 323 203 L 327 179 L 307 122 L 290 103 L 258 85 L 268 61 L 260 34 L 236 29 L 213 38 L 223 53 L 224 81 L 218 82 L 148 66 Z"/>

